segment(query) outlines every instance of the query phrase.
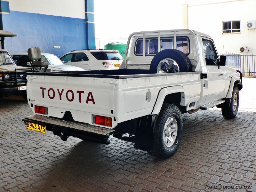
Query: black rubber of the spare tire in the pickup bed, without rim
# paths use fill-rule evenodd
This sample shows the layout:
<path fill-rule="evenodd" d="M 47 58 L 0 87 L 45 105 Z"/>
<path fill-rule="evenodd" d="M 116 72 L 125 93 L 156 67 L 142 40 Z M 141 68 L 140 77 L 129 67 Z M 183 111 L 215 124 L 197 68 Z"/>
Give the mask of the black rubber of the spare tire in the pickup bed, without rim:
<path fill-rule="evenodd" d="M 177 49 L 165 49 L 157 53 L 155 57 L 152 59 L 149 68 L 150 73 L 157 73 L 158 64 L 160 63 L 160 61 L 167 58 L 175 60 L 177 62 L 180 68 L 180 72 L 192 71 L 192 64 L 185 53 Z"/>

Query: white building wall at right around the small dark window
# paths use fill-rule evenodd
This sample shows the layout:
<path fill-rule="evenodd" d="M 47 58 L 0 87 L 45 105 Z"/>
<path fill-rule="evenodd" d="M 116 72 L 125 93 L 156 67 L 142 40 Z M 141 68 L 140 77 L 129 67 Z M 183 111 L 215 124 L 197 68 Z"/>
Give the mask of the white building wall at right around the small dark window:
<path fill-rule="evenodd" d="M 201 1 L 201 4 L 203 1 Z M 211 1 L 214 2 L 214 1 Z M 211 3 L 210 2 L 210 3 Z M 188 3 L 188 28 L 210 35 L 217 47 L 218 53 L 240 53 L 239 48 L 248 46 L 248 53 L 256 52 L 256 29 L 246 29 L 247 21 L 256 21 L 256 1 L 218 1 L 224 3 L 209 3 L 204 1 L 198 5 L 195 1 Z M 241 33 L 222 34 L 222 21 L 241 20 Z"/>

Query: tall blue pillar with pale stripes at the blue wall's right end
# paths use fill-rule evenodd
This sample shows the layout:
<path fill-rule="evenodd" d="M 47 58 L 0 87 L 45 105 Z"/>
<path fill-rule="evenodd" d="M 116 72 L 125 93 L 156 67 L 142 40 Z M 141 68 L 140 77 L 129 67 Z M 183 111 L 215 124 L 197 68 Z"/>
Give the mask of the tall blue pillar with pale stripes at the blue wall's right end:
<path fill-rule="evenodd" d="M 86 47 L 95 49 L 94 2 L 85 0 Z"/>

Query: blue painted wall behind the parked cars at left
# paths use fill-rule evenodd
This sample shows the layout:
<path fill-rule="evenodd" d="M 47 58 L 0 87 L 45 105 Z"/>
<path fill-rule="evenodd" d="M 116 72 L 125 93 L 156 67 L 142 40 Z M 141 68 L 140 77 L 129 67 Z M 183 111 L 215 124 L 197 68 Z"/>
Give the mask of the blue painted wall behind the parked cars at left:
<path fill-rule="evenodd" d="M 85 19 L 18 11 L 10 11 L 2 17 L 3 29 L 18 35 L 5 38 L 4 48 L 9 53 L 39 47 L 42 52 L 62 56 L 74 49 L 95 48 L 94 23 L 93 27 L 88 26 Z M 60 46 L 60 49 L 53 46 Z"/>

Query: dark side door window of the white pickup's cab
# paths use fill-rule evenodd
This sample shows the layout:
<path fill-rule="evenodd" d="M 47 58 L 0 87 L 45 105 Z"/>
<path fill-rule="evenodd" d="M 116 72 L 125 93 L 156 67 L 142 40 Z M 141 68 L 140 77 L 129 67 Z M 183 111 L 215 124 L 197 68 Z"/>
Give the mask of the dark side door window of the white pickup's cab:
<path fill-rule="evenodd" d="M 203 39 L 203 47 L 204 47 L 204 57 L 206 60 L 206 65 L 218 65 L 219 58 L 217 52 L 215 50 L 214 44 L 209 39 Z"/>

